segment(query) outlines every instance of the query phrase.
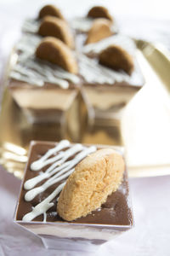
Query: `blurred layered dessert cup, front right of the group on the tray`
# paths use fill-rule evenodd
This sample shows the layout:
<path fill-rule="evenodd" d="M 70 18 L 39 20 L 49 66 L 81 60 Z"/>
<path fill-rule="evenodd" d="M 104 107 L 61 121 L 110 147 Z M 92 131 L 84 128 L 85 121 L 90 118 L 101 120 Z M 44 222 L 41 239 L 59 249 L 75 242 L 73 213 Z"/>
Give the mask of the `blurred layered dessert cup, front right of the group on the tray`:
<path fill-rule="evenodd" d="M 143 86 L 135 50 L 133 41 L 121 34 L 82 48 L 79 73 L 89 123 L 119 119 L 120 111 Z"/>

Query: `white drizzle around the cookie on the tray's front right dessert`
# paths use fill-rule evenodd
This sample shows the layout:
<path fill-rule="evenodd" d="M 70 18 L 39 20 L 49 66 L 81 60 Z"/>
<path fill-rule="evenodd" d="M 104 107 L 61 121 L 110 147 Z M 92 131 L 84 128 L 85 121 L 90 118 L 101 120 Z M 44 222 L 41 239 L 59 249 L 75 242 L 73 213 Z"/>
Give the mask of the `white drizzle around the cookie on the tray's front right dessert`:
<path fill-rule="evenodd" d="M 100 65 L 95 58 L 89 58 L 87 55 L 99 55 L 99 53 L 107 48 L 109 45 L 115 44 L 125 49 L 133 56 L 134 70 L 131 75 L 128 75 L 123 70 L 112 70 L 109 67 Z M 117 34 L 110 38 L 105 38 L 95 44 L 88 44 L 82 48 L 82 54 L 79 54 L 79 73 L 85 82 L 89 84 L 115 84 L 126 82 L 134 86 L 141 86 L 144 84 L 143 76 L 140 72 L 139 65 L 134 57 L 135 44 L 131 38 L 124 35 Z"/>

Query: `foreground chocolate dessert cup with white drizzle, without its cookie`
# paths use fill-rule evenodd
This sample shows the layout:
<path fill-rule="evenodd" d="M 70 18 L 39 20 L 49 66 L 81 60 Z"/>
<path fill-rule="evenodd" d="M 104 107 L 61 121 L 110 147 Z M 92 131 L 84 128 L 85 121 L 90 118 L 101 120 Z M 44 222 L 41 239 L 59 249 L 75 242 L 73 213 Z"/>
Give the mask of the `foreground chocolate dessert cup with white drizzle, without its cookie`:
<path fill-rule="evenodd" d="M 32 141 L 15 222 L 41 236 L 47 247 L 65 249 L 68 246 L 71 250 L 87 250 L 87 246 L 91 250 L 93 245 L 130 229 L 133 216 L 126 170 L 116 191 L 85 217 L 66 221 L 56 212 L 59 193 L 68 183 L 68 177 L 76 172 L 82 160 L 90 155 L 92 159 L 101 148 L 113 148 L 117 155 L 122 155 L 122 148 L 110 146 L 71 144 L 67 140 L 59 143 Z"/>

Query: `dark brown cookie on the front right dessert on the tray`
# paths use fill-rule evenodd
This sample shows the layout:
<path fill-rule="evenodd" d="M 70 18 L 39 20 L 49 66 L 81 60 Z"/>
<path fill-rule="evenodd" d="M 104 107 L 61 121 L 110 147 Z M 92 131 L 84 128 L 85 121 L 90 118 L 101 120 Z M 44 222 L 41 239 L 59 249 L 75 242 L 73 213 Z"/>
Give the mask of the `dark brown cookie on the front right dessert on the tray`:
<path fill-rule="evenodd" d="M 114 70 L 122 69 L 129 75 L 133 72 L 133 57 L 125 49 L 110 45 L 99 54 L 99 63 Z"/>

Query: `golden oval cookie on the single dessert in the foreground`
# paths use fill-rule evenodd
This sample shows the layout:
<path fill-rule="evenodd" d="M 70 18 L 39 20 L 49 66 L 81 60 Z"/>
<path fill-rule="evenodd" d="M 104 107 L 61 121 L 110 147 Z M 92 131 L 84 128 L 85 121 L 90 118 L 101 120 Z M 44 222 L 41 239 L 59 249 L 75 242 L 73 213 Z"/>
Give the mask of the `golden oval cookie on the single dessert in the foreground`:
<path fill-rule="evenodd" d="M 75 168 L 59 195 L 57 212 L 67 221 L 99 208 L 122 182 L 124 160 L 111 148 L 89 154 Z"/>

